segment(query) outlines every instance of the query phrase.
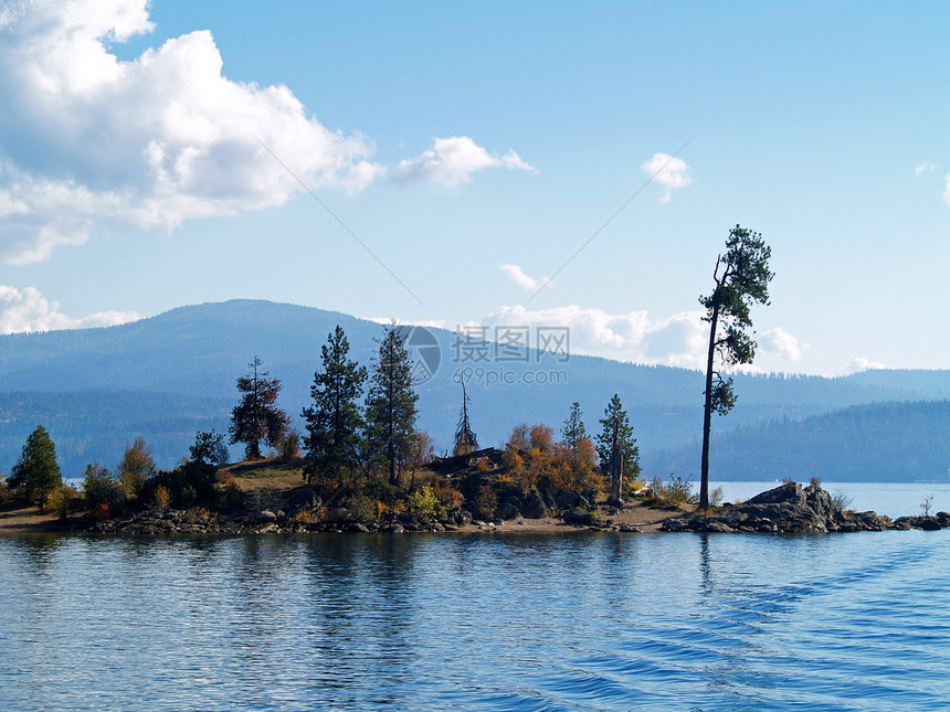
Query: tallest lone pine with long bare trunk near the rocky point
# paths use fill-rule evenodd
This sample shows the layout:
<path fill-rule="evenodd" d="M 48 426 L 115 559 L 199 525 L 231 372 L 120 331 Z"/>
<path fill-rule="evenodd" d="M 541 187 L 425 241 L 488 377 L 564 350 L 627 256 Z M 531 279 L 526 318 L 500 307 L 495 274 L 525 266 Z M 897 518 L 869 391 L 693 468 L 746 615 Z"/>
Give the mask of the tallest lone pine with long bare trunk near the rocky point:
<path fill-rule="evenodd" d="M 712 273 L 716 286 L 712 294 L 699 298 L 699 304 L 706 308 L 703 319 L 709 322 L 706 402 L 703 408 L 700 509 L 709 507 L 709 436 L 712 429 L 712 412 L 726 415 L 736 405 L 732 379 L 716 370 L 717 357 L 724 366 L 751 363 L 756 357 L 756 342 L 746 330 L 752 327 L 751 306 L 769 304 L 769 283 L 775 276 L 769 270 L 771 256 L 771 247 L 759 233 L 736 225 L 729 231 L 725 257 L 719 255 L 716 259 L 716 269 Z"/>

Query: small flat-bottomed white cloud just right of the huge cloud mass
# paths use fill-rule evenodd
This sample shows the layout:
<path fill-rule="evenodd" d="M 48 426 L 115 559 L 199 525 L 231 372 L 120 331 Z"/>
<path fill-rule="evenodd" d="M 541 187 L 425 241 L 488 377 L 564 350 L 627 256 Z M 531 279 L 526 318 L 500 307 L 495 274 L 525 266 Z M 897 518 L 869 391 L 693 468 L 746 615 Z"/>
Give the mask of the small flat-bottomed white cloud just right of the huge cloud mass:
<path fill-rule="evenodd" d="M 486 168 L 507 168 L 537 172 L 515 151 L 492 155 L 467 136 L 433 139 L 433 147 L 415 159 L 405 159 L 395 168 L 393 180 L 408 184 L 433 182 L 441 185 L 467 183 L 471 174 Z"/>

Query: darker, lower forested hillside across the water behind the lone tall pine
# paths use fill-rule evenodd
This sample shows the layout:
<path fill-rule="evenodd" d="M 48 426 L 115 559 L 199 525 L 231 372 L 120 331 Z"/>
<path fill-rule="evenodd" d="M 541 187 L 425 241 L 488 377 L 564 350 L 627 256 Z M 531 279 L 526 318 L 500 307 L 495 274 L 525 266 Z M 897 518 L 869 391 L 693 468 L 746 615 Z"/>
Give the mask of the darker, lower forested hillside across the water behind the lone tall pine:
<path fill-rule="evenodd" d="M 856 405 L 802 421 L 743 426 L 712 439 L 719 480 L 950 481 L 950 401 Z M 651 475 L 696 472 L 699 444 L 653 453 Z"/>

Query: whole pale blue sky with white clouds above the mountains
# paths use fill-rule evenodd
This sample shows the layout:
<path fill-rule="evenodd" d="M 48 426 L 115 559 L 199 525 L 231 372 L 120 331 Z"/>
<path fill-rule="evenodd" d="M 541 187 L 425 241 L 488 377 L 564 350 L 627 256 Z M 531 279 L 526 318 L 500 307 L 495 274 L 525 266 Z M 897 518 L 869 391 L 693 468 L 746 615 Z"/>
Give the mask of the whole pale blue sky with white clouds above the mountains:
<path fill-rule="evenodd" d="M 262 298 L 698 366 L 739 223 L 777 275 L 758 368 L 950 368 L 948 29 L 942 2 L 0 0 L 0 332 Z"/>

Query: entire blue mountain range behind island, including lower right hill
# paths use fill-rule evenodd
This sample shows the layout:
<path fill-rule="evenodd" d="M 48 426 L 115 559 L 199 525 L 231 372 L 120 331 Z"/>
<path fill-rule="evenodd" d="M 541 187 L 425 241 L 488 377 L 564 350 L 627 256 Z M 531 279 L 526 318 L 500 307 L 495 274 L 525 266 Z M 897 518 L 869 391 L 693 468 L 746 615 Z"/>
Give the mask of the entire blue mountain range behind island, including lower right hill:
<path fill-rule="evenodd" d="M 260 300 L 181 307 L 108 328 L 0 336 L 0 471 L 9 471 L 38 424 L 53 437 L 67 477 L 81 477 L 93 461 L 113 466 L 137 436 L 149 443 L 160 467 L 171 467 L 188 453 L 196 432 L 226 432 L 238 400 L 235 380 L 255 355 L 281 379 L 281 405 L 302 428 L 320 347 L 337 325 L 346 331 L 350 357 L 369 366 L 381 325 Z M 537 333 L 525 329 L 519 334 L 516 343 L 499 344 L 413 328 L 420 425 L 432 434 L 437 451 L 451 447 L 464 379 L 472 425 L 483 446 L 503 445 L 522 422 L 542 422 L 559 432 L 574 401 L 589 433 L 597 433 L 598 418 L 619 393 L 645 474 L 696 471 L 699 372 L 563 349 L 549 352 L 536 348 L 542 346 Z M 739 373 L 735 380 L 739 403 L 714 424 L 712 471 L 719 479 L 796 477 L 789 475 L 796 471 L 805 478 L 817 471 L 827 479 L 841 479 L 841 474 L 864 480 L 947 477 L 947 431 L 927 431 L 935 444 L 925 458 L 922 431 L 914 424 L 920 418 L 950 423 L 948 407 L 915 410 L 950 398 L 950 371 L 866 371 L 841 378 Z M 886 467 L 879 454 L 872 456 L 857 442 L 872 432 L 896 458 Z M 834 442 L 842 443 L 842 457 L 847 453 L 843 469 L 828 446 Z M 239 453 L 232 448 L 235 457 Z M 775 459 L 780 453 L 784 461 Z"/>

